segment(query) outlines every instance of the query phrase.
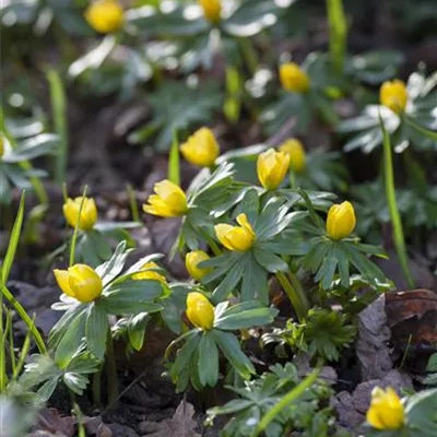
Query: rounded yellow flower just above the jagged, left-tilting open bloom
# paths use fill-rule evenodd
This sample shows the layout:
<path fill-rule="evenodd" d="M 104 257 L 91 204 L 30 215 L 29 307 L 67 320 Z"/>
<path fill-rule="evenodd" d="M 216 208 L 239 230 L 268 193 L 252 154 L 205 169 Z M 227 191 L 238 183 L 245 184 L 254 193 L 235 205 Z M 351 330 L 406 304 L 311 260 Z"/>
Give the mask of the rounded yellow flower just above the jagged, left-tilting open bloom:
<path fill-rule="evenodd" d="M 211 167 L 220 154 L 220 147 L 211 129 L 201 128 L 180 146 L 184 157 L 199 167 Z"/>

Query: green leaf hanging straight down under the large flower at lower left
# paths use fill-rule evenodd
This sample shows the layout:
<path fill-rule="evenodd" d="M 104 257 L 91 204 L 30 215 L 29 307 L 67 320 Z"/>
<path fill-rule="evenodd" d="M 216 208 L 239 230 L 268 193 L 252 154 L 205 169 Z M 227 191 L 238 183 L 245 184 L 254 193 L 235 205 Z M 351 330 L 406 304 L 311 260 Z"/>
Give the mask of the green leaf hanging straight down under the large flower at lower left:
<path fill-rule="evenodd" d="M 108 316 L 97 303 L 90 305 L 87 312 L 85 326 L 86 345 L 97 359 L 103 361 L 109 329 Z"/>

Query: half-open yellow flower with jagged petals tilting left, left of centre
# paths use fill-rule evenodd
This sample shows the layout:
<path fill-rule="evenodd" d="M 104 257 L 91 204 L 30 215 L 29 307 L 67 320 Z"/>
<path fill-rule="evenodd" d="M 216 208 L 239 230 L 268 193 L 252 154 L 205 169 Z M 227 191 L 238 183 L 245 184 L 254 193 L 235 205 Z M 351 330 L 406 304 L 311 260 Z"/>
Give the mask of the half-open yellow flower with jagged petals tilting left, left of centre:
<path fill-rule="evenodd" d="M 156 194 L 149 197 L 144 212 L 161 217 L 178 217 L 187 212 L 187 197 L 176 184 L 165 179 L 155 184 L 153 190 Z"/>

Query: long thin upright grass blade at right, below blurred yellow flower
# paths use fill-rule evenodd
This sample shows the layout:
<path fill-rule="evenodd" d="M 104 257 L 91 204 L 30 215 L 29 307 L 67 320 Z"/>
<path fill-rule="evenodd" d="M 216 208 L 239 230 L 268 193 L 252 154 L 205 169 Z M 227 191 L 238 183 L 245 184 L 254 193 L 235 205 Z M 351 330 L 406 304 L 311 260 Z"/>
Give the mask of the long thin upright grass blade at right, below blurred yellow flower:
<path fill-rule="evenodd" d="M 385 173 L 385 182 L 386 182 L 386 197 L 387 203 L 390 211 L 391 223 L 393 226 L 393 239 L 394 246 L 398 252 L 399 262 L 401 264 L 402 272 L 406 279 L 406 283 L 410 288 L 414 288 L 414 280 L 411 274 L 409 267 L 409 259 L 406 256 L 406 247 L 405 239 L 403 235 L 401 215 L 398 209 L 398 202 L 395 198 L 395 188 L 394 188 L 394 176 L 393 176 L 393 156 L 391 153 L 391 144 L 389 133 L 383 126 L 382 120 L 381 128 L 383 134 L 383 173 Z"/>

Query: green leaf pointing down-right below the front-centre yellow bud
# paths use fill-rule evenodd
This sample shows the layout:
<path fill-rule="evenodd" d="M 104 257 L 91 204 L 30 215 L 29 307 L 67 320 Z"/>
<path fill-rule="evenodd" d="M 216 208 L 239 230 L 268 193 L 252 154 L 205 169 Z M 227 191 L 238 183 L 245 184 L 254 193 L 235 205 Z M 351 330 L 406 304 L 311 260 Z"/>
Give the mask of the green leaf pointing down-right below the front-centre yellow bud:
<path fill-rule="evenodd" d="M 225 358 L 244 379 L 249 379 L 251 375 L 256 374 L 253 364 L 241 351 L 238 340 L 234 334 L 217 329 L 212 330 L 210 334 L 214 335 L 215 343 Z"/>

